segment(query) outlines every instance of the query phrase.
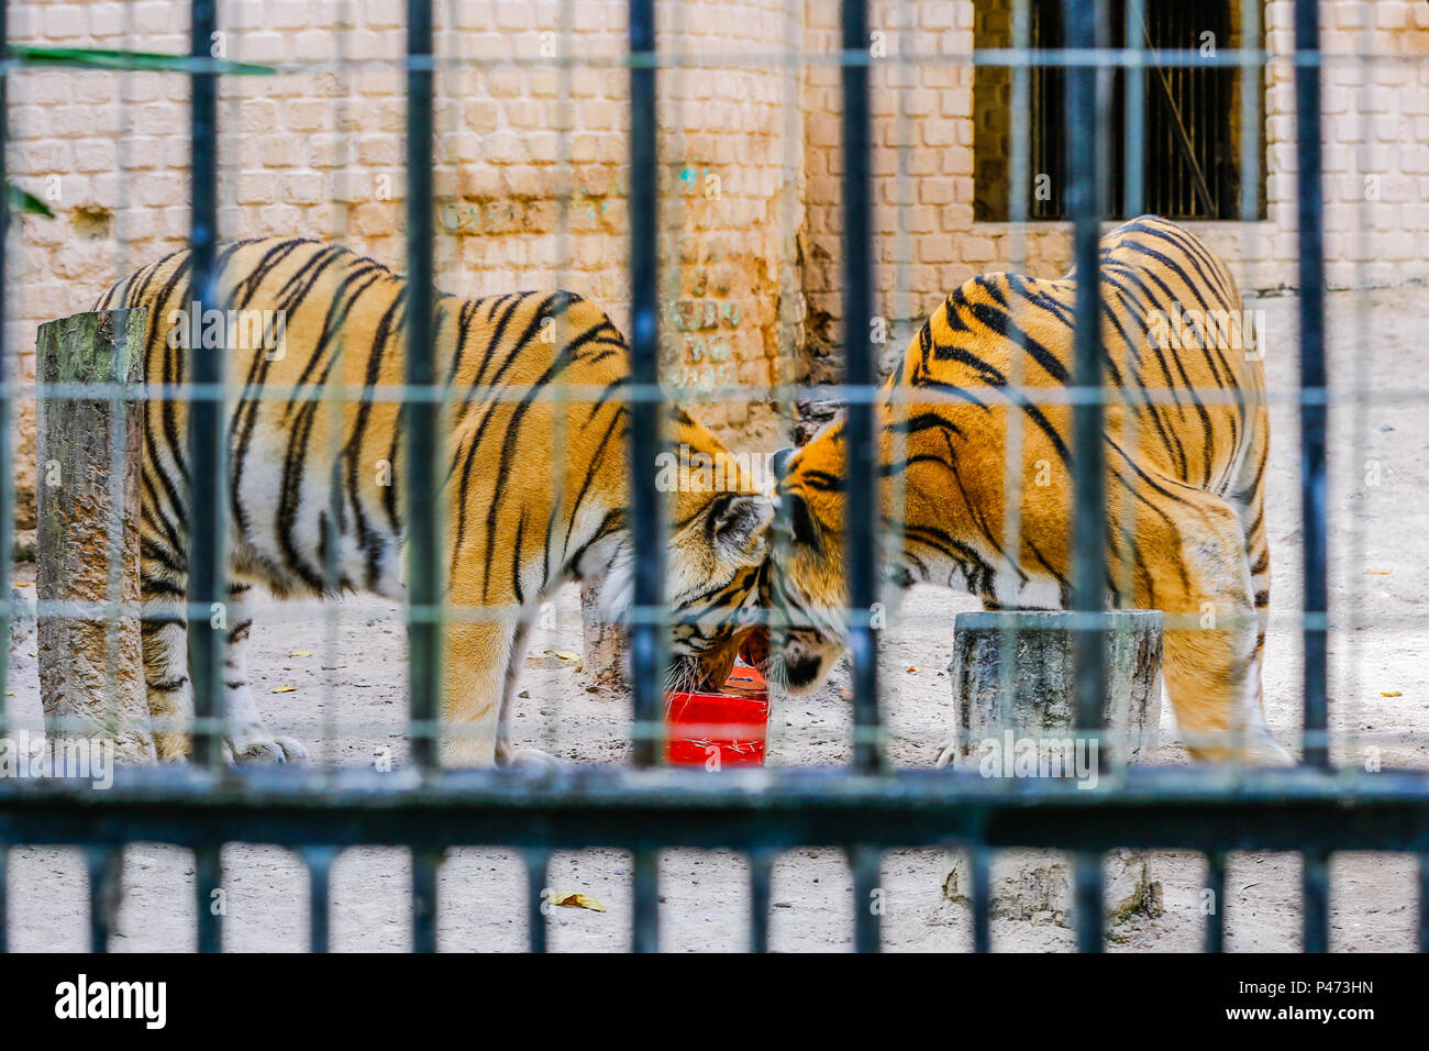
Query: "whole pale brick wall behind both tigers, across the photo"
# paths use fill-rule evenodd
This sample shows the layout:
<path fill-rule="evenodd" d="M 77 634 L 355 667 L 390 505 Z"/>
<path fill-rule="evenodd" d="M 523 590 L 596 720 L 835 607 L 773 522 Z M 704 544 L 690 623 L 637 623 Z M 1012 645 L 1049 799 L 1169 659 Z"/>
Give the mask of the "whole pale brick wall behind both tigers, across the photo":
<path fill-rule="evenodd" d="M 1268 46 L 1290 51 L 1290 1 L 1269 0 Z M 437 4 L 436 190 L 440 285 L 492 295 L 562 283 L 627 317 L 626 9 L 576 0 Z M 792 10 L 786 10 L 792 9 Z M 767 385 L 813 362 L 832 378 L 840 286 L 839 73 L 743 64 L 786 44 L 837 49 L 837 4 L 693 0 L 659 4 L 667 51 L 730 54 L 660 74 L 669 375 Z M 912 24 L 900 17 L 910 13 Z M 21 43 L 187 49 L 187 3 L 11 0 Z M 226 0 L 227 57 L 332 63 L 276 77 L 226 77 L 220 114 L 224 236 L 343 240 L 400 266 L 403 242 L 403 0 Z M 449 23 L 447 19 L 454 19 Z M 344 21 L 346 20 L 346 21 Z M 1325 46 L 1380 57 L 1325 73 L 1326 247 L 1332 285 L 1429 279 L 1429 3 L 1326 0 Z M 340 27 L 337 31 L 334 27 Z M 966 277 L 1012 265 L 1005 223 L 973 220 L 973 76 L 956 63 L 897 64 L 900 46 L 969 53 L 969 0 L 876 0 L 875 246 L 879 312 L 919 319 Z M 540 60 L 554 46 L 573 64 Z M 1410 61 L 1395 61 L 1405 56 Z M 563 99 L 563 83 L 566 90 Z M 10 79 L 13 177 L 53 193 L 56 220 L 13 232 L 10 346 L 33 375 L 34 329 L 86 309 L 116 277 L 180 247 L 187 212 L 187 82 L 181 76 L 29 70 Z M 906 114 L 900 123 L 899 112 Z M 562 139 L 556 129 L 566 127 Z M 1295 150 L 1290 69 L 1266 82 L 1268 219 L 1198 229 L 1239 260 L 1248 287 L 1293 285 Z M 906 147 L 909 179 L 899 177 Z M 564 150 L 569 166 L 559 163 Z M 706 196 L 717 182 L 717 194 Z M 1366 182 L 1366 177 L 1370 177 Z M 1366 190 L 1378 194 L 1366 199 Z M 566 196 L 566 223 L 560 199 Z M 902 220 L 902 235 L 899 233 Z M 1365 230 L 1355 233 L 1359 224 Z M 1066 267 L 1063 224 L 1036 224 L 1026 269 Z M 805 323 L 800 325 L 800 319 Z M 807 357 L 805 349 L 807 336 Z M 704 413 L 760 440 L 766 416 L 739 403 Z M 20 422 L 19 462 L 31 456 Z"/>

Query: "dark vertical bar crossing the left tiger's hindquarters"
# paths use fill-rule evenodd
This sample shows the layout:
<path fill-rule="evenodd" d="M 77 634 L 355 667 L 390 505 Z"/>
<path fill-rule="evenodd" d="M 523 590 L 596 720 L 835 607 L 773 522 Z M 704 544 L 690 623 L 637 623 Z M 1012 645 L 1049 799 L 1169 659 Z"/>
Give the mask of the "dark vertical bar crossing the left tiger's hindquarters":
<path fill-rule="evenodd" d="M 217 31 L 217 0 L 191 0 L 189 54 L 210 60 Z M 193 300 L 199 317 L 221 309 L 217 286 L 219 245 L 219 77 L 190 71 L 189 109 L 191 212 L 189 247 L 193 266 Z M 219 722 L 223 711 L 223 646 L 226 618 L 213 612 L 227 601 L 227 449 L 221 398 L 224 355 L 191 349 L 189 375 L 197 388 L 189 405 L 189 675 L 193 684 L 193 759 L 220 762 Z"/>

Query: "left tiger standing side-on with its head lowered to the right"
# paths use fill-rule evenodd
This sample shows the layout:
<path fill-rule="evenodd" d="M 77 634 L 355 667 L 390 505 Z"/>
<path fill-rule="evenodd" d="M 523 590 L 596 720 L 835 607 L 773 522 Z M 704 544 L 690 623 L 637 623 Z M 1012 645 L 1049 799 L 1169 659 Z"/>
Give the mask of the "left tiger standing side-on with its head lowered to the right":
<path fill-rule="evenodd" d="M 306 758 L 263 725 L 249 688 L 252 593 L 329 599 L 403 595 L 404 327 L 407 280 L 339 245 L 257 239 L 220 246 L 224 313 L 190 316 L 189 250 L 143 267 L 96 310 L 146 307 L 141 413 L 140 593 L 144 681 L 160 759 L 189 756 L 186 653 L 190 478 L 187 408 L 161 388 L 191 375 L 194 353 L 226 353 L 229 565 L 226 729 L 233 762 Z M 597 589 L 602 615 L 632 608 L 629 352 L 606 313 L 570 292 L 480 299 L 433 293 L 433 353 L 444 392 L 440 761 L 549 765 L 507 732 L 540 603 L 562 582 Z M 219 340 L 204 339 L 209 322 Z M 226 337 L 224 333 L 227 333 Z M 200 345 L 224 343 L 221 350 Z M 346 392 L 346 393 L 342 393 Z M 680 456 L 720 442 L 667 403 Z M 719 679 L 733 663 L 726 618 L 757 601 L 772 506 L 729 458 L 714 489 L 669 500 L 666 595 L 670 676 Z M 656 470 L 654 463 L 649 465 Z"/>

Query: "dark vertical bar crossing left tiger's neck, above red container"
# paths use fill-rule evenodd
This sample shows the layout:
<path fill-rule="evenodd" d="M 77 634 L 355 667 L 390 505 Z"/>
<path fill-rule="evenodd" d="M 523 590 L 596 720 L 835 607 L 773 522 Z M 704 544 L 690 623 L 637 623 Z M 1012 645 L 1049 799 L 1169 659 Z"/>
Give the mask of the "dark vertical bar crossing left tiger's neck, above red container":
<path fill-rule="evenodd" d="M 654 0 L 630 3 L 630 513 L 634 532 L 634 765 L 657 762 L 664 668 L 663 506 L 654 458 L 662 446 L 659 126 L 656 123 Z"/>

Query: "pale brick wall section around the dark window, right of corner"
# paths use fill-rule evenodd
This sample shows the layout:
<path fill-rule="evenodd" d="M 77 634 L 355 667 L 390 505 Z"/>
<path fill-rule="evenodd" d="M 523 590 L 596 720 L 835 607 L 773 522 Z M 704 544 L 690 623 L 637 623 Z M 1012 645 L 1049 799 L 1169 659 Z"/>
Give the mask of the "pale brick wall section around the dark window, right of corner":
<path fill-rule="evenodd" d="M 1275 289 L 1296 283 L 1295 96 L 1290 0 L 1265 4 L 1266 44 L 1278 57 L 1266 77 L 1266 222 L 1193 223 L 1228 259 L 1242 283 Z M 1326 0 L 1320 4 L 1323 47 L 1330 54 L 1362 51 L 1378 61 L 1366 76 L 1358 63 L 1332 61 L 1325 71 L 1325 223 L 1328 279 L 1333 287 L 1429 280 L 1429 3 Z M 809 6 L 806 46 L 832 51 L 839 43 L 837 7 Z M 916 26 L 900 19 L 912 10 Z M 903 4 L 875 0 L 870 29 L 886 34 L 886 61 L 873 66 L 879 312 L 919 320 L 973 275 L 1009 269 L 1013 237 L 1006 223 L 973 220 L 973 76 L 969 66 L 920 64 L 910 89 L 896 69 L 900 40 L 916 51 L 973 50 L 973 6 Z M 1363 37 L 1360 37 L 1363 33 Z M 1396 56 L 1408 60 L 1396 61 Z M 810 257 L 806 275 L 815 346 L 836 347 L 839 316 L 840 197 L 839 80 L 832 67 L 806 74 Z M 909 114 L 905 189 L 897 177 L 899 106 Z M 1368 176 L 1373 180 L 1366 182 Z M 1366 199 L 1366 187 L 1378 199 Z M 906 194 L 906 196 L 900 196 Z M 900 207 L 900 202 L 905 202 Z M 906 245 L 899 246 L 902 219 Z M 1366 227 L 1358 236 L 1356 226 Z M 1067 227 L 1033 223 L 1025 269 L 1056 276 L 1069 265 Z M 905 296 L 895 295 L 902 287 Z M 816 375 L 819 370 L 816 369 Z"/>

